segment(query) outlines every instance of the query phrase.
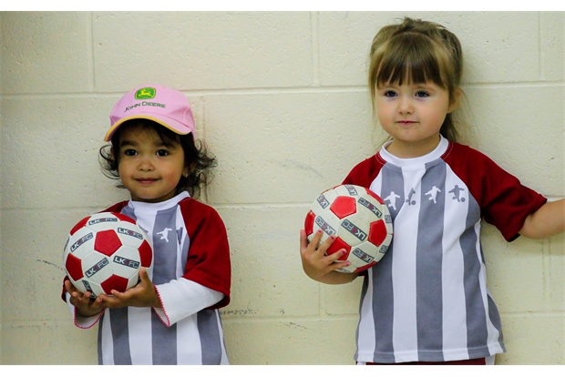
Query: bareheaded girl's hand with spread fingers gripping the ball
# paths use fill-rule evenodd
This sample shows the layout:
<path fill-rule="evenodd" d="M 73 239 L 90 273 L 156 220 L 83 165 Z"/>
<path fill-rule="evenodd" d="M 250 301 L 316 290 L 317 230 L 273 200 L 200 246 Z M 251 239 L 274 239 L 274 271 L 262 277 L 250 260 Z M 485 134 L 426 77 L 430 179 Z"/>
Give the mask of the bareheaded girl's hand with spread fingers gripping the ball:
<path fill-rule="evenodd" d="M 349 266 L 349 261 L 336 262 L 341 258 L 345 250 L 338 250 L 332 255 L 325 255 L 326 250 L 332 245 L 334 239 L 331 237 L 326 239 L 318 249 L 316 245 L 322 239 L 322 231 L 314 234 L 312 242 L 308 243 L 306 232 L 300 231 L 300 255 L 303 260 L 303 269 L 311 279 L 321 281 L 328 284 L 343 284 L 353 281 L 357 274 L 342 273 L 335 270 Z"/>

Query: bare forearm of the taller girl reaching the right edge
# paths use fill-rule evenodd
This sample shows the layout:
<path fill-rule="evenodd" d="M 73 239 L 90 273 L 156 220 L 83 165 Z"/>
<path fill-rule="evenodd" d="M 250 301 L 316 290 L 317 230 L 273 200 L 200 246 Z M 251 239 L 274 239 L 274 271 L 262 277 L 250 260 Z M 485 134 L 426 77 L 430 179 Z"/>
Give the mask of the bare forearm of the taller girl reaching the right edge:
<path fill-rule="evenodd" d="M 565 230 L 565 199 L 548 201 L 529 215 L 519 234 L 529 239 L 546 239 Z"/>

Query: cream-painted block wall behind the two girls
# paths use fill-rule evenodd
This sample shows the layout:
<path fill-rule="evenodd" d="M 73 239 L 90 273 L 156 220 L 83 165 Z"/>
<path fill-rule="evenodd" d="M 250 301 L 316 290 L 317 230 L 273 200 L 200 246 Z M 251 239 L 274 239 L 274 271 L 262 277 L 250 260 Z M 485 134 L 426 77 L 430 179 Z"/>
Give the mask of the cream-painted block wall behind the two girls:
<path fill-rule="evenodd" d="M 374 153 L 372 37 L 403 15 L 446 25 L 467 58 L 469 140 L 529 187 L 563 189 L 563 13 L 0 13 L 0 352 L 96 363 L 96 330 L 59 299 L 67 230 L 126 193 L 99 172 L 113 103 L 182 90 L 219 160 L 205 198 L 229 231 L 233 364 L 352 364 L 361 281 L 304 274 L 311 201 Z M 563 364 L 563 237 L 508 244 L 486 226 L 504 364 Z"/>

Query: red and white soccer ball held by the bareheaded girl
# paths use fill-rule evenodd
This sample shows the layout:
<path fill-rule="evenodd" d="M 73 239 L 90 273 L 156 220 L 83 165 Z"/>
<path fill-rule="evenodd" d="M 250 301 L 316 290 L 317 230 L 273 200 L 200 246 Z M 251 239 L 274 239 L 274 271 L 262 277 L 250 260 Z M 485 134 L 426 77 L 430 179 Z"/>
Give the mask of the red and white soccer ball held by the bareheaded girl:
<path fill-rule="evenodd" d="M 304 220 L 309 241 L 319 229 L 323 230 L 320 244 L 330 236 L 336 237 L 327 255 L 347 250 L 337 261 L 349 260 L 351 264 L 340 272 L 373 267 L 385 255 L 393 238 L 392 219 L 383 199 L 354 185 L 328 189 L 313 201 Z"/>

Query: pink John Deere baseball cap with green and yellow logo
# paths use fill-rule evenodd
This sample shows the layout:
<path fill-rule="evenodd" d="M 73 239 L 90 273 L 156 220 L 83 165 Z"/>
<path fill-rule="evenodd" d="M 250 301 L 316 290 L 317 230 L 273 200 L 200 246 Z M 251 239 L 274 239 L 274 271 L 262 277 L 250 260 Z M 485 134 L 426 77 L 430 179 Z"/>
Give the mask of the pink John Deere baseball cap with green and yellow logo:
<path fill-rule="evenodd" d="M 110 114 L 110 129 L 104 141 L 110 141 L 120 125 L 130 119 L 149 119 L 179 135 L 195 134 L 190 103 L 180 91 L 160 85 L 130 90 Z"/>

